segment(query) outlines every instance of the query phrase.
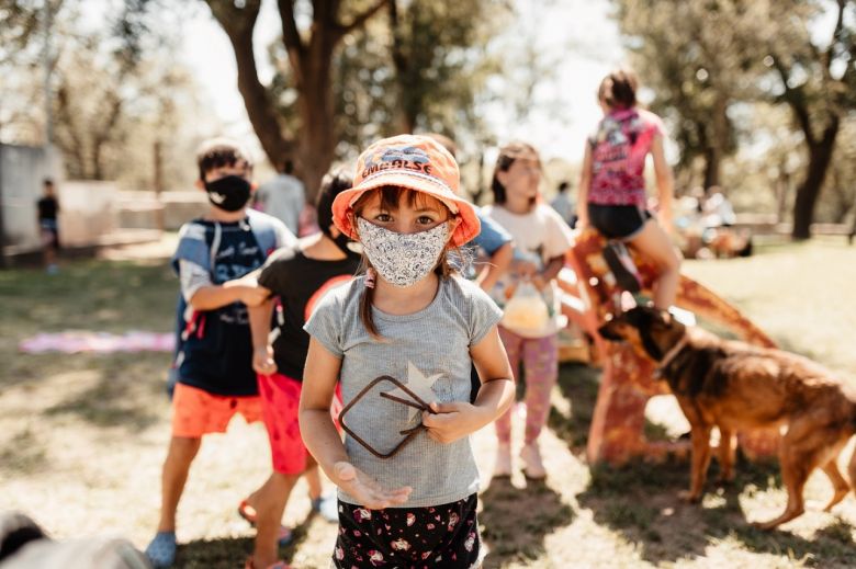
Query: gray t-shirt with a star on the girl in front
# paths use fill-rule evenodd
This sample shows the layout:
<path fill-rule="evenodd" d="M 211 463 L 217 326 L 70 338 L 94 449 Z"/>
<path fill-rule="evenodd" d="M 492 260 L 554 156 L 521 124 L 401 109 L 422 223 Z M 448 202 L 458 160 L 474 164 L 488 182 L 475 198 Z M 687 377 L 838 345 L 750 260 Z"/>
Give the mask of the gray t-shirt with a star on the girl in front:
<path fill-rule="evenodd" d="M 330 353 L 341 357 L 345 405 L 383 375 L 425 397 L 432 395 L 437 401 L 469 401 L 470 348 L 502 318 L 496 304 L 464 278 L 444 278 L 431 304 L 418 312 L 395 316 L 373 308 L 374 323 L 383 337 L 379 341 L 360 320 L 363 287 L 364 277 L 358 277 L 330 291 L 304 327 Z M 399 431 L 421 419 L 418 410 L 380 397 L 381 391 L 394 389 L 387 382 L 375 386 L 345 417 L 349 429 L 380 453 L 391 451 L 404 437 Z M 413 488 L 403 508 L 455 502 L 478 490 L 478 470 L 469 437 L 442 444 L 420 431 L 398 454 L 386 459 L 378 458 L 347 435 L 345 448 L 351 463 L 382 487 Z M 339 499 L 359 504 L 341 490 Z"/>

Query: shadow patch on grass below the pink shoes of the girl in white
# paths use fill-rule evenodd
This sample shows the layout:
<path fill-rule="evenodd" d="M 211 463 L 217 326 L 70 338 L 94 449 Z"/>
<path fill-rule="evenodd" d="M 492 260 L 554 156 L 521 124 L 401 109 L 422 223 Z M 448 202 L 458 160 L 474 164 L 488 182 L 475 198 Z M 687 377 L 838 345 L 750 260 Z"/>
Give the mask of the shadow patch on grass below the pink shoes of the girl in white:
<path fill-rule="evenodd" d="M 571 507 L 543 482 L 529 481 L 526 488 L 517 488 L 507 478 L 493 479 L 480 499 L 482 538 L 491 549 L 485 568 L 541 557 L 544 537 L 575 517 Z"/>

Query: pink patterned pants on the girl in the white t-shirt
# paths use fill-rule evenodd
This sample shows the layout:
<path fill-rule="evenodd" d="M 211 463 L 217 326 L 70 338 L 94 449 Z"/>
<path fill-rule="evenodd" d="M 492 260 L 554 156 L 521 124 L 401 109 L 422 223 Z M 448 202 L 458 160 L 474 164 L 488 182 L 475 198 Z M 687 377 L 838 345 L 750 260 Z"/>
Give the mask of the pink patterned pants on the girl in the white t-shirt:
<path fill-rule="evenodd" d="M 543 338 L 523 338 L 502 326 L 499 338 L 503 340 L 505 351 L 515 379 L 519 379 L 520 362 L 522 360 L 526 372 L 526 434 L 525 442 L 529 444 L 538 439 L 547 423 L 550 412 L 550 391 L 559 377 L 559 337 L 557 334 Z M 511 408 L 514 409 L 514 407 Z M 496 420 L 496 437 L 500 443 L 511 441 L 511 409 Z"/>

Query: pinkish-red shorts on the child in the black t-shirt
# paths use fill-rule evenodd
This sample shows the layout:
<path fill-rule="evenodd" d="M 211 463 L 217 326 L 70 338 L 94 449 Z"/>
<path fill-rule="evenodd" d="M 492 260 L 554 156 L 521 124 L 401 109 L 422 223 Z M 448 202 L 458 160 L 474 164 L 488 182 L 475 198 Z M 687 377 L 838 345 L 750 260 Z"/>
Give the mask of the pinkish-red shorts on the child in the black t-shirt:
<path fill-rule="evenodd" d="M 258 375 L 262 420 L 268 429 L 273 471 L 299 475 L 306 469 L 308 451 L 301 437 L 297 408 L 303 384 L 282 374 Z M 338 385 L 333 409 L 334 419 L 341 410 Z"/>

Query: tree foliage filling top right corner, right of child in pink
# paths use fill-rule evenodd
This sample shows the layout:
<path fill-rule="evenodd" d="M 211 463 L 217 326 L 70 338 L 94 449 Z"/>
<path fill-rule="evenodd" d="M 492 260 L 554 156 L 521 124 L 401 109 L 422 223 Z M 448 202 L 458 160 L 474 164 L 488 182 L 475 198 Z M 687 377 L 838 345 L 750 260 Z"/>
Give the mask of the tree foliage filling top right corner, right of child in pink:
<path fill-rule="evenodd" d="M 745 167 L 762 169 L 769 178 L 752 191 L 774 186 L 781 203 L 790 175 L 804 169 L 797 175 L 797 217 L 811 219 L 825 181 L 835 190 L 819 212 L 823 219 L 843 220 L 854 201 L 852 192 L 843 189 L 846 159 L 838 157 L 837 166 L 827 166 L 827 149 L 836 145 L 842 122 L 856 110 L 853 2 L 617 0 L 615 4 L 633 64 L 642 82 L 654 90 L 651 106 L 673 126 L 680 149 L 678 179 L 686 186 L 698 182 L 699 169 L 705 171 L 706 185 L 719 183 L 722 160 L 752 145 L 756 166 L 744 164 L 733 180 L 745 186 L 752 177 Z M 801 136 L 808 151 L 795 157 L 799 168 L 793 168 L 793 158 L 784 158 L 795 153 L 790 133 L 774 125 L 768 125 L 766 135 L 755 129 L 752 115 L 759 105 L 788 111 L 788 130 Z M 829 169 L 832 180 L 826 177 Z"/>

